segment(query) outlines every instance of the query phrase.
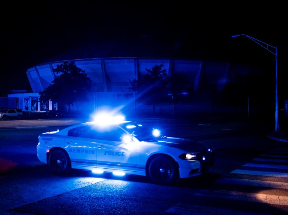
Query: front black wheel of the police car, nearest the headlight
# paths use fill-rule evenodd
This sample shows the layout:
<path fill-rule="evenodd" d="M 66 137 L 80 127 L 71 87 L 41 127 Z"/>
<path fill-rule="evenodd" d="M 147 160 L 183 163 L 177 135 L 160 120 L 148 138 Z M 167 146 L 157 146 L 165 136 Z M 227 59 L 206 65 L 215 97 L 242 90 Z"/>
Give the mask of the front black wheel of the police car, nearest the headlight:
<path fill-rule="evenodd" d="M 179 179 L 176 162 L 164 155 L 153 158 L 148 167 L 149 177 L 155 184 L 173 184 Z"/>

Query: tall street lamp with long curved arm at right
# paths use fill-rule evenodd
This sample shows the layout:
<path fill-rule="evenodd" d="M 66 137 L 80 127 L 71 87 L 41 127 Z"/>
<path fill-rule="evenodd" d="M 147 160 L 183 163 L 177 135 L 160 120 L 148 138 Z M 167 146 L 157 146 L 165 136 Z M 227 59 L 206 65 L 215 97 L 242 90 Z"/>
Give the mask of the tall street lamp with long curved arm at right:
<path fill-rule="evenodd" d="M 278 95 L 277 95 L 277 46 L 273 47 L 271 45 L 268 45 L 265 42 L 262 42 L 258 39 L 255 39 L 253 37 L 250 37 L 246 34 L 237 34 L 237 35 L 233 35 L 232 38 L 238 37 L 238 36 L 247 36 L 249 39 L 253 40 L 254 42 L 256 42 L 257 44 L 261 45 L 263 48 L 265 48 L 267 51 L 271 52 L 272 54 L 275 55 L 275 60 L 276 60 L 276 91 L 275 91 L 275 132 L 280 132 L 280 128 L 279 128 L 279 116 L 278 116 Z M 264 46 L 265 45 L 265 46 Z M 270 49 L 272 49 L 273 51 L 271 51 Z"/>

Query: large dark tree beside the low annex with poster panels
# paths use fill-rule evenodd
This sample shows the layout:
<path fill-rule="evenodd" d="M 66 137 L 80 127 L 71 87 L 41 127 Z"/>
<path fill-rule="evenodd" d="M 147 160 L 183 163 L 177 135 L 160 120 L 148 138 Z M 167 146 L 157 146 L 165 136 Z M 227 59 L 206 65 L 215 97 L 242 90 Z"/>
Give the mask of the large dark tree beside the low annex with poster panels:
<path fill-rule="evenodd" d="M 92 81 L 87 77 L 85 70 L 78 68 L 73 61 L 58 64 L 53 72 L 60 73 L 60 75 L 55 77 L 52 81 L 53 84 L 49 84 L 43 92 L 39 93 L 39 100 L 65 103 L 70 113 L 71 105 L 75 101 L 87 100 L 87 93 L 91 89 Z"/>

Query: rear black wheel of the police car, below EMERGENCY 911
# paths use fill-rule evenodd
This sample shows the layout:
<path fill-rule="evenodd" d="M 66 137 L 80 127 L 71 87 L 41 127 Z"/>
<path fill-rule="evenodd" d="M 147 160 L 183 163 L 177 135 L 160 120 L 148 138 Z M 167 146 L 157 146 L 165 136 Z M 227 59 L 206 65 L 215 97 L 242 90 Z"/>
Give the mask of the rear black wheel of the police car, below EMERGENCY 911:
<path fill-rule="evenodd" d="M 49 168 L 56 174 L 65 174 L 71 170 L 71 161 L 66 152 L 52 151 L 48 159 Z"/>

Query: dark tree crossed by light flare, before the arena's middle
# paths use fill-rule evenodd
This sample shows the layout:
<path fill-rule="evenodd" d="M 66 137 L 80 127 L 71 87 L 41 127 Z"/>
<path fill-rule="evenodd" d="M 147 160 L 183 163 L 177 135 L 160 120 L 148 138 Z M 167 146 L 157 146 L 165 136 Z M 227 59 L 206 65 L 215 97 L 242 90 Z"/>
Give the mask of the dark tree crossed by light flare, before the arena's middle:
<path fill-rule="evenodd" d="M 159 102 L 166 99 L 170 86 L 170 78 L 166 73 L 166 69 L 162 69 L 164 65 L 155 65 L 151 69 L 145 69 L 147 74 L 139 77 L 138 80 L 131 78 L 129 81 L 131 87 L 128 89 L 137 92 L 137 100 L 144 101 L 148 105 L 153 105 L 153 112 L 155 113 L 155 106 Z"/>

